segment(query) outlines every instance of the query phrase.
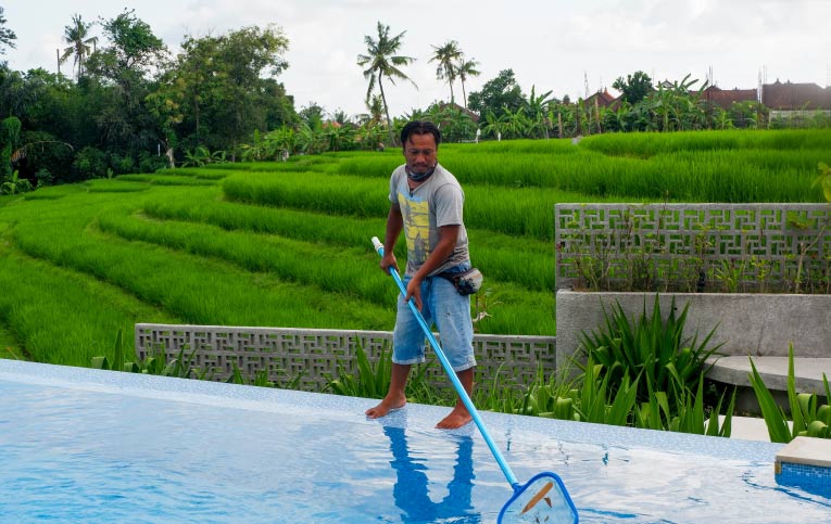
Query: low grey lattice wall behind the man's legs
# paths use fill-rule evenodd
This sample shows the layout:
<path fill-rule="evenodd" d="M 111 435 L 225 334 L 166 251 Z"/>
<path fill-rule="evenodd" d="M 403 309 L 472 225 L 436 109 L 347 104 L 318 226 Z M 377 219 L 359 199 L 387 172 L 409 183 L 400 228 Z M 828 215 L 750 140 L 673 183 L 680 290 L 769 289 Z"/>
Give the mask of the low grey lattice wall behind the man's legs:
<path fill-rule="evenodd" d="M 477 381 L 528 384 L 541 369 L 554 371 L 555 338 L 547 336 L 475 335 Z M 280 386 L 294 382 L 305 391 L 322 391 L 338 367 L 356 369 L 355 349 L 361 347 L 376 362 L 392 347 L 386 331 L 303 330 L 292 328 L 238 328 L 222 325 L 136 324 L 136 354 L 140 360 L 164 354 L 185 359 L 212 380 L 227 380 L 235 365 L 249 380 L 265 370 Z M 428 359 L 431 352 L 427 353 Z M 449 387 L 438 361 L 427 371 L 430 382 Z"/>

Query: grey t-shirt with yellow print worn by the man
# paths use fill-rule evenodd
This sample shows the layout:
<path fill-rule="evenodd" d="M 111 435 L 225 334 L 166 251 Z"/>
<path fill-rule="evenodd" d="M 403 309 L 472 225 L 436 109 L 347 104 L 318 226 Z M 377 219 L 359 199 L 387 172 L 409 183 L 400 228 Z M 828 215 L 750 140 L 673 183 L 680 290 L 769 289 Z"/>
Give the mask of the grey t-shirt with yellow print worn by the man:
<path fill-rule="evenodd" d="M 439 243 L 439 228 L 459 226 L 456 247 L 448 260 L 431 274 L 468 261 L 467 231 L 462 220 L 465 193 L 456 177 L 436 166 L 436 171 L 426 182 L 412 192 L 407 184 L 404 166 L 392 171 L 390 177 L 390 202 L 401 206 L 404 218 L 404 237 L 407 241 L 406 274 L 412 277 Z"/>

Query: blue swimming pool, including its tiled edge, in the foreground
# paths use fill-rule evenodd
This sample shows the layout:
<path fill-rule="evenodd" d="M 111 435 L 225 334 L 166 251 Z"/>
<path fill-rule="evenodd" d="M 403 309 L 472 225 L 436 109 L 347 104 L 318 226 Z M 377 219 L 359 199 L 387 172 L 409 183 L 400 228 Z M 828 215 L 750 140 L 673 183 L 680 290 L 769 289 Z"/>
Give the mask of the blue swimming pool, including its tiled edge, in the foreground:
<path fill-rule="evenodd" d="M 0 520 L 490 523 L 511 488 L 444 408 L 0 360 Z M 520 482 L 562 476 L 581 522 L 831 521 L 782 487 L 781 445 L 482 412 Z"/>

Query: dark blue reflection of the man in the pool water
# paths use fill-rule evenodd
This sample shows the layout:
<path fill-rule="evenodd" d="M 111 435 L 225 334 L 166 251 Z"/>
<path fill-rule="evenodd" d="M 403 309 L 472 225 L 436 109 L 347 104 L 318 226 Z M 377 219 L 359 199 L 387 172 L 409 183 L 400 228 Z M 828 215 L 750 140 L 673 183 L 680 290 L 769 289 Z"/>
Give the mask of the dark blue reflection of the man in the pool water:
<path fill-rule="evenodd" d="M 456 465 L 453 480 L 448 484 L 448 496 L 441 502 L 433 502 L 428 495 L 427 468 L 410 457 L 407 438 L 402 427 L 383 427 L 390 439 L 392 468 L 396 481 L 392 495 L 395 506 L 402 511 L 403 522 L 427 523 L 452 520 L 453 523 L 477 524 L 481 522 L 479 513 L 470 513 L 470 491 L 474 487 L 474 439 L 462 437 L 457 440 Z"/>

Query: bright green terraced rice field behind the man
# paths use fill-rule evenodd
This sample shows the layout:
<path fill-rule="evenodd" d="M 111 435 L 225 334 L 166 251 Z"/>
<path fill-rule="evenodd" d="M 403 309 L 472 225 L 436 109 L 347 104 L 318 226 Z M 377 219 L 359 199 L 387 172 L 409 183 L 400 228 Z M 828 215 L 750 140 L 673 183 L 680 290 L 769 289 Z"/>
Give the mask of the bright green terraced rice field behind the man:
<path fill-rule="evenodd" d="M 477 331 L 554 335 L 553 206 L 823 202 L 831 131 L 443 144 L 462 182 Z M 391 330 L 382 237 L 398 150 L 126 175 L 0 196 L 0 352 L 89 366 L 135 322 Z M 396 248 L 405 258 L 403 241 Z"/>

